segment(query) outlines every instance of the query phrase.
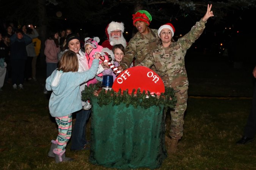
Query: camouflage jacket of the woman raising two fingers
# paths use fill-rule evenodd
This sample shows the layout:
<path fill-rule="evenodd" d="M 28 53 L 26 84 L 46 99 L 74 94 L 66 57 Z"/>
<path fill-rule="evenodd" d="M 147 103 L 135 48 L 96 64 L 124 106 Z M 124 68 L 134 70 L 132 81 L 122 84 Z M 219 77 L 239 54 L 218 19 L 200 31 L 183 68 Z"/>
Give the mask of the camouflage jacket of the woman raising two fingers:
<path fill-rule="evenodd" d="M 185 54 L 204 31 L 205 23 L 202 19 L 196 22 L 187 34 L 166 48 L 158 45 L 140 65 L 149 68 L 154 65 L 156 73 L 162 78 L 166 87 L 179 89 L 188 86 Z"/>

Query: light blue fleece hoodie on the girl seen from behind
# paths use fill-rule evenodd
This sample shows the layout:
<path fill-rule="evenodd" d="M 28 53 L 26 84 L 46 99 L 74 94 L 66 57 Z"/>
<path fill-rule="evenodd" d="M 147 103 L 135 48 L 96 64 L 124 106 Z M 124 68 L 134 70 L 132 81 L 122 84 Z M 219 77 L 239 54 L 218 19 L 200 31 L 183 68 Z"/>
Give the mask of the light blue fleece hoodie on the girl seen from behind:
<path fill-rule="evenodd" d="M 96 76 L 99 59 L 94 59 L 91 68 L 83 72 L 67 72 L 54 70 L 46 79 L 46 90 L 52 94 L 49 110 L 52 117 L 67 116 L 82 109 L 80 84 Z"/>

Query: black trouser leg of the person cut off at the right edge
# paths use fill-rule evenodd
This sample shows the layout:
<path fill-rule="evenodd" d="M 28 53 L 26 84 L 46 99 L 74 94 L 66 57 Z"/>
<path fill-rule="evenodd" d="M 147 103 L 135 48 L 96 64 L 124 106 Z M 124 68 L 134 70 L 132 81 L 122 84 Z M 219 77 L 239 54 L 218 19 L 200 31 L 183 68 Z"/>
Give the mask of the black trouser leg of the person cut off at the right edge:
<path fill-rule="evenodd" d="M 254 138 L 256 133 L 256 81 L 253 90 L 253 102 L 251 106 L 251 113 L 248 117 L 247 124 L 244 130 L 244 136 L 248 138 Z"/>

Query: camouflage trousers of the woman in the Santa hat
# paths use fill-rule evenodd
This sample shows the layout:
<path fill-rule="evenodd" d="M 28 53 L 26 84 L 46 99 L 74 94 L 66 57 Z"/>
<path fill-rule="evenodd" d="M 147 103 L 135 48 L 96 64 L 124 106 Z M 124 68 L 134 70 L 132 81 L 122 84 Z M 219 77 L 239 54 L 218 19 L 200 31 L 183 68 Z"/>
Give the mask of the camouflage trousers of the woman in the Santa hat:
<path fill-rule="evenodd" d="M 188 87 L 176 89 L 175 96 L 177 103 L 174 110 L 171 110 L 171 130 L 169 135 L 173 139 L 181 139 L 183 133 L 184 113 L 187 109 Z"/>

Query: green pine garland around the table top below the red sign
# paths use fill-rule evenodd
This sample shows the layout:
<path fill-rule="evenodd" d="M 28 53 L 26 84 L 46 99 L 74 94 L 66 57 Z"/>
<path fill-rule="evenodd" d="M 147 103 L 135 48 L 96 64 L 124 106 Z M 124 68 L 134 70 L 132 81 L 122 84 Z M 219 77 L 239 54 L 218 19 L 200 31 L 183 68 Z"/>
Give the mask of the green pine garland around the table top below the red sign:
<path fill-rule="evenodd" d="M 108 105 L 113 102 L 114 105 L 119 105 L 121 102 L 126 104 L 126 107 L 129 107 L 129 105 L 133 105 L 134 108 L 137 108 L 138 106 L 142 108 L 149 108 L 151 106 L 164 106 L 165 110 L 168 108 L 174 108 L 177 99 L 176 96 L 174 96 L 175 92 L 173 88 L 171 87 L 165 87 L 165 93 L 161 93 L 159 97 L 154 97 L 145 91 L 141 93 L 140 89 L 137 90 L 136 95 L 135 89 L 133 89 L 132 93 L 129 94 L 128 90 L 124 90 L 123 93 L 121 92 L 121 89 L 119 89 L 118 92 L 115 92 L 113 89 L 108 90 L 106 92 L 105 89 L 102 89 L 99 93 L 99 96 L 95 96 L 95 91 L 99 90 L 101 87 L 102 82 L 98 82 L 97 84 L 90 84 L 89 87 L 85 86 L 85 90 L 82 91 L 82 100 L 90 100 L 92 103 L 92 97 L 97 98 L 97 103 L 99 106 L 102 105 Z M 157 96 L 156 94 L 154 94 Z"/>

